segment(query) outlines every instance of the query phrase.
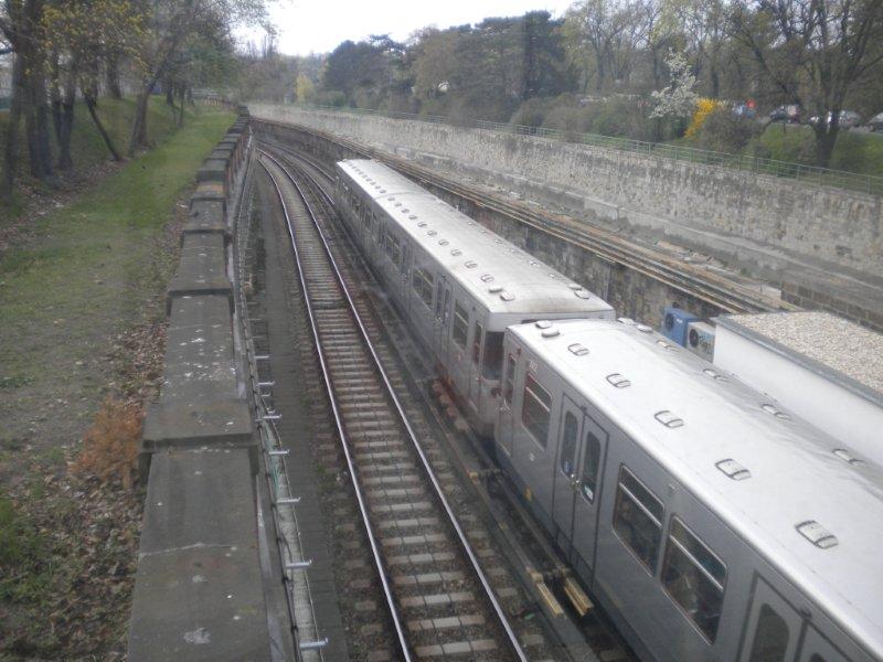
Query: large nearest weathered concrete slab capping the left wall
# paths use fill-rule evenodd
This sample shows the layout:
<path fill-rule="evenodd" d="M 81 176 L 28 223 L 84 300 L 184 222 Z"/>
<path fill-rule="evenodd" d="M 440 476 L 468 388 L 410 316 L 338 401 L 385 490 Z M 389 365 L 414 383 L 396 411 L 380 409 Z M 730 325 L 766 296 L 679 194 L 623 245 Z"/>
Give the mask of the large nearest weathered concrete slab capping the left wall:
<path fill-rule="evenodd" d="M 247 451 L 169 451 L 153 465 L 129 660 L 268 660 Z"/>

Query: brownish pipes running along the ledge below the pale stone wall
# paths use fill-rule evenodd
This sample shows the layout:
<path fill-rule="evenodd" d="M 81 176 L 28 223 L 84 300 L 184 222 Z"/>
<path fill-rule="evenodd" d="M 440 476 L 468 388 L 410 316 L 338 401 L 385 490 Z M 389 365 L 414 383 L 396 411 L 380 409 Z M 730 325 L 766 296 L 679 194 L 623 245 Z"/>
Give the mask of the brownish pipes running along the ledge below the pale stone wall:
<path fill-rule="evenodd" d="M 613 235 L 613 233 L 605 232 L 600 228 L 584 225 L 574 227 L 573 224 L 567 224 L 571 225 L 571 227 L 565 228 L 567 232 L 562 232 L 556 226 L 562 226 L 564 223 L 562 220 L 555 218 L 551 214 L 521 210 L 512 203 L 507 203 L 492 196 L 471 191 L 449 178 L 414 166 L 404 159 L 391 157 L 380 150 L 333 136 L 327 131 L 273 120 L 262 119 L 257 121 L 285 128 L 294 127 L 323 138 L 364 158 L 383 161 L 421 182 L 429 183 L 454 195 L 469 200 L 479 207 L 492 210 L 513 218 L 520 224 L 530 225 L 545 234 L 551 234 L 571 245 L 589 250 L 602 257 L 602 259 L 626 266 L 663 285 L 715 306 L 725 312 L 757 312 L 779 309 L 799 310 L 799 307 L 792 303 L 773 301 L 754 292 L 744 291 L 738 286 L 734 286 L 733 284 L 724 281 L 723 278 L 714 277 L 708 273 L 689 274 L 689 271 L 693 269 L 689 267 L 685 268 L 683 264 L 675 264 L 674 260 L 667 260 L 653 256 L 650 249 L 634 244 L 624 245 L 626 243 L 621 237 L 617 237 Z"/>

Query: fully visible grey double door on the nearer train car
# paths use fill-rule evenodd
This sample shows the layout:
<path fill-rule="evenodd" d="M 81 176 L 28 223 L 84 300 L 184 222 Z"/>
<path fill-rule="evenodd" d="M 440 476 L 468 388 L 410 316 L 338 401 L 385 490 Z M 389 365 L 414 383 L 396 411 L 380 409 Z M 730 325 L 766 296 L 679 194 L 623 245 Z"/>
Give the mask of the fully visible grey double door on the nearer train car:
<path fill-rule="evenodd" d="M 595 567 L 600 467 L 607 433 L 566 395 L 558 426 L 553 519 L 571 560 Z"/>

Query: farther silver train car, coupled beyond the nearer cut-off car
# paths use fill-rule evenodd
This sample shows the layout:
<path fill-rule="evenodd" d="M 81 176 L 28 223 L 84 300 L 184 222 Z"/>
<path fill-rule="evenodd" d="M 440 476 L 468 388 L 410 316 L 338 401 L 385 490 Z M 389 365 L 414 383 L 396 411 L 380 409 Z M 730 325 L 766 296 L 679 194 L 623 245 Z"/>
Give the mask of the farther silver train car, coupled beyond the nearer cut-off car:
<path fill-rule="evenodd" d="M 613 308 L 391 168 L 337 164 L 336 204 L 417 339 L 486 436 L 503 332 L 526 320 L 613 319 Z"/>

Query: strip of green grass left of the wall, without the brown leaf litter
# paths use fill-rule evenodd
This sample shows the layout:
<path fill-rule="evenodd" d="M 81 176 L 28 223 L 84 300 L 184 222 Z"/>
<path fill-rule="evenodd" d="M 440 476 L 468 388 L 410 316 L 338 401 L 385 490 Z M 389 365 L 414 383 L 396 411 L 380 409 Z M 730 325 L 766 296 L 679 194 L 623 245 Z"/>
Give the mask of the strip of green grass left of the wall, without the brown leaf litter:
<path fill-rule="evenodd" d="M 168 274 L 157 274 L 151 258 L 172 205 L 232 119 L 215 110 L 191 117 L 77 202 L 41 217 L 35 236 L 0 261 L 4 437 L 32 427 L 15 425 L 17 408 L 43 410 L 31 396 L 94 398 L 95 369 L 113 338 L 147 317 L 146 300 L 164 286 Z"/>

